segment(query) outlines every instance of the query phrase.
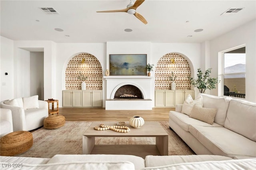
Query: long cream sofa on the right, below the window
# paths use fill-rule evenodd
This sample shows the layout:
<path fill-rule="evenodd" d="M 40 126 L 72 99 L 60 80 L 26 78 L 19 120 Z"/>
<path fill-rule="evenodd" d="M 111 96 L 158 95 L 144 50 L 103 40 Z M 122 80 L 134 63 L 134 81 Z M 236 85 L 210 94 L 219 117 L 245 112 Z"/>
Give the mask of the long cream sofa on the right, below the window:
<path fill-rule="evenodd" d="M 212 125 L 184 113 L 184 106 L 189 105 L 185 101 L 184 105 L 176 106 L 176 111 L 170 111 L 170 128 L 196 154 L 214 154 L 231 158 L 256 157 L 256 103 L 200 94 L 190 102 L 190 107 L 198 105 L 195 103 L 200 99 L 203 108 L 217 109 Z M 195 108 L 199 107 L 194 106 L 193 109 Z"/>

